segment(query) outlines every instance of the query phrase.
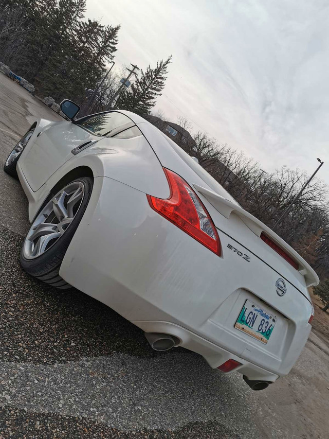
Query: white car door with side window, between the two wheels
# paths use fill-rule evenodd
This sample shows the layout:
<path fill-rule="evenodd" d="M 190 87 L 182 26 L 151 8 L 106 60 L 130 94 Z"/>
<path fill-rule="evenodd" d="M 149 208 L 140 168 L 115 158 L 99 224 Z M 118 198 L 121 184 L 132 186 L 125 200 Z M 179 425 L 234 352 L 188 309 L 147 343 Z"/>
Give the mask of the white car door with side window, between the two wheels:
<path fill-rule="evenodd" d="M 129 117 L 111 111 L 75 122 L 63 121 L 45 129 L 27 152 L 22 166 L 32 190 L 38 190 L 77 151 L 125 124 L 134 125 Z"/>

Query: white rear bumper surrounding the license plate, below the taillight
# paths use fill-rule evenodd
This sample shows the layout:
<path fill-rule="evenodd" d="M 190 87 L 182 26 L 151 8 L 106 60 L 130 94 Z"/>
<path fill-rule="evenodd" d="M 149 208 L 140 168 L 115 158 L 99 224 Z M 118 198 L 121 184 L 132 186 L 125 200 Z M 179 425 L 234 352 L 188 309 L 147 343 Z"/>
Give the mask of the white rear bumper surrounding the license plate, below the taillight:
<path fill-rule="evenodd" d="M 60 275 L 147 332 L 166 332 L 212 367 L 232 358 L 249 379 L 286 375 L 304 347 L 311 305 L 258 258 L 218 257 L 154 212 L 141 191 L 98 177 Z M 268 344 L 234 328 L 249 299 L 278 317 Z M 265 302 L 264 302 L 265 301 Z"/>

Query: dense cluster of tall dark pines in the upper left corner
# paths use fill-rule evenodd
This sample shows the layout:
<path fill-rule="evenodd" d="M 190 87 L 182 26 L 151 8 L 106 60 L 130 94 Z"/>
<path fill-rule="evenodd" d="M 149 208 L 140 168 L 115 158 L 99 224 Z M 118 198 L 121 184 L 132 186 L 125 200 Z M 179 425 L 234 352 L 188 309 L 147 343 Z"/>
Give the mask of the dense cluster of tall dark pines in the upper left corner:
<path fill-rule="evenodd" d="M 40 95 L 83 103 L 86 90 L 94 89 L 113 59 L 120 26 L 83 21 L 85 4 L 0 0 L 0 59 L 14 62 L 15 72 Z M 8 37 L 12 23 L 16 28 Z"/>

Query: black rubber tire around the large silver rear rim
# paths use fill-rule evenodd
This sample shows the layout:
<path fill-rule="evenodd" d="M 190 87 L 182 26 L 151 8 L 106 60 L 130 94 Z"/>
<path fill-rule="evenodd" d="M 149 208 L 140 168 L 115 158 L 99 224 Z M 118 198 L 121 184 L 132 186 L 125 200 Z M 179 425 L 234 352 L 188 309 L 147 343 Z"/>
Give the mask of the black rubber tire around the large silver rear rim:
<path fill-rule="evenodd" d="M 46 284 L 50 284 L 51 286 L 59 289 L 71 288 L 71 285 L 69 285 L 59 275 L 59 270 L 62 264 L 62 260 L 65 256 L 66 250 L 83 217 L 83 214 L 88 205 L 90 195 L 92 194 L 92 190 L 93 190 L 92 178 L 80 177 L 78 179 L 72 180 L 72 182 L 76 182 L 76 181 L 81 182 L 84 185 L 84 189 L 85 189 L 84 198 L 81 202 L 81 205 L 79 207 L 76 216 L 70 223 L 69 227 L 67 227 L 65 233 L 45 253 L 43 253 L 39 257 L 36 257 L 35 259 L 26 259 L 24 257 L 23 254 L 24 243 L 21 251 L 21 265 L 24 268 L 24 270 L 30 275 L 40 280 L 43 280 L 43 282 L 45 282 Z M 54 195 L 55 194 L 52 194 L 50 197 L 48 197 L 48 199 L 40 208 L 39 212 L 41 212 L 43 207 Z M 38 215 L 39 213 L 36 216 Z"/>

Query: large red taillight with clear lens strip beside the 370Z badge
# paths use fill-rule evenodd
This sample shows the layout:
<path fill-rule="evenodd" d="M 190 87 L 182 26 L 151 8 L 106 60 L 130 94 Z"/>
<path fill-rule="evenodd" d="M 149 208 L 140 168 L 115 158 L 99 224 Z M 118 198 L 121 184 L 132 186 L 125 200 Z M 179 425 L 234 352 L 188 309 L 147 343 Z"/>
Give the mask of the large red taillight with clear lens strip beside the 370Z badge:
<path fill-rule="evenodd" d="M 221 255 L 221 243 L 216 227 L 194 190 L 175 172 L 163 168 L 170 187 L 167 200 L 148 195 L 150 206 L 181 230 Z"/>

